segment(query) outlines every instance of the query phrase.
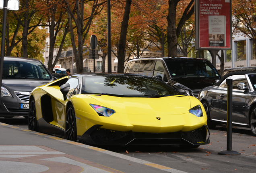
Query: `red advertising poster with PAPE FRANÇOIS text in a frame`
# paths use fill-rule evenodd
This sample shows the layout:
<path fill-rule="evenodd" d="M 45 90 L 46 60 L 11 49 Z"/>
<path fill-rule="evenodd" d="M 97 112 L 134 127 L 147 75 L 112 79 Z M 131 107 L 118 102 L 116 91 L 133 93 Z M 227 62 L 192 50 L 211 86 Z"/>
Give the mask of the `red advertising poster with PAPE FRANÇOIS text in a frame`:
<path fill-rule="evenodd" d="M 230 49 L 230 0 L 198 0 L 196 10 L 197 48 Z"/>

